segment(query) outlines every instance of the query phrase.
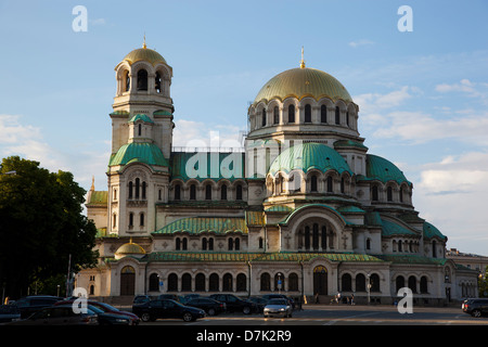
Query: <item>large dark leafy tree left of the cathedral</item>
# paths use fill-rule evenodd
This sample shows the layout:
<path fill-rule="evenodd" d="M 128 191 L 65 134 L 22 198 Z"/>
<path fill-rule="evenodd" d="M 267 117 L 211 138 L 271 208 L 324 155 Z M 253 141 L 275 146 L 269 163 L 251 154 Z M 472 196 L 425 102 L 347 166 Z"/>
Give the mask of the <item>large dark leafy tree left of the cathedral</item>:
<path fill-rule="evenodd" d="M 15 175 L 5 175 L 15 171 Z M 70 172 L 11 156 L 0 175 L 0 281 L 18 297 L 34 281 L 92 267 L 97 228 L 82 215 L 86 191 Z"/>

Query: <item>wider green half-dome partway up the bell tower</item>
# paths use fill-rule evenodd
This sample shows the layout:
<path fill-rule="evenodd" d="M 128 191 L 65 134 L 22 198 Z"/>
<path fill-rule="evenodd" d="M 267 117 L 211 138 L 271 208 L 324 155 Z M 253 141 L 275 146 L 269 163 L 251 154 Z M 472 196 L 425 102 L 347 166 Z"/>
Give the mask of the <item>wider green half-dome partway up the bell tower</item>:
<path fill-rule="evenodd" d="M 132 142 L 124 144 L 112 156 L 108 166 L 127 165 L 129 163 L 145 163 L 147 165 L 168 166 L 163 152 L 154 143 Z"/>

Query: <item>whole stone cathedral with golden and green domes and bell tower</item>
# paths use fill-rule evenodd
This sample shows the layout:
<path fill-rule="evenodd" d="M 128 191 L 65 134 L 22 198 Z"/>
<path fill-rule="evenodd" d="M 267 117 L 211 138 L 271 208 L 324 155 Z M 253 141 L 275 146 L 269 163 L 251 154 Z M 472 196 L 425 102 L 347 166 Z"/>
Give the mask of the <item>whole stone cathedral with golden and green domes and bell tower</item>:
<path fill-rule="evenodd" d="M 92 184 L 86 203 L 100 258 L 76 286 L 102 298 L 477 296 L 476 272 L 447 259 L 447 236 L 419 217 L 412 182 L 369 153 L 336 78 L 301 55 L 257 91 L 242 149 L 177 151 L 172 76 L 145 42 L 115 66 L 107 188 Z"/>

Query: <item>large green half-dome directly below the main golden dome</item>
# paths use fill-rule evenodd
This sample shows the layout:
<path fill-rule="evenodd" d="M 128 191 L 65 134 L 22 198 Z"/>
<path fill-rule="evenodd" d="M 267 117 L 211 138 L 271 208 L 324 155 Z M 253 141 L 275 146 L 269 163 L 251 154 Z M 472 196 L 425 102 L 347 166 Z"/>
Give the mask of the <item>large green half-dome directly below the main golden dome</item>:
<path fill-rule="evenodd" d="M 269 174 L 272 176 L 278 171 L 290 174 L 295 169 L 301 169 L 304 172 L 310 169 L 322 172 L 336 170 L 339 175 L 348 171 L 354 175 L 341 154 L 325 144 L 314 142 L 297 144 L 283 151 L 271 164 Z"/>

